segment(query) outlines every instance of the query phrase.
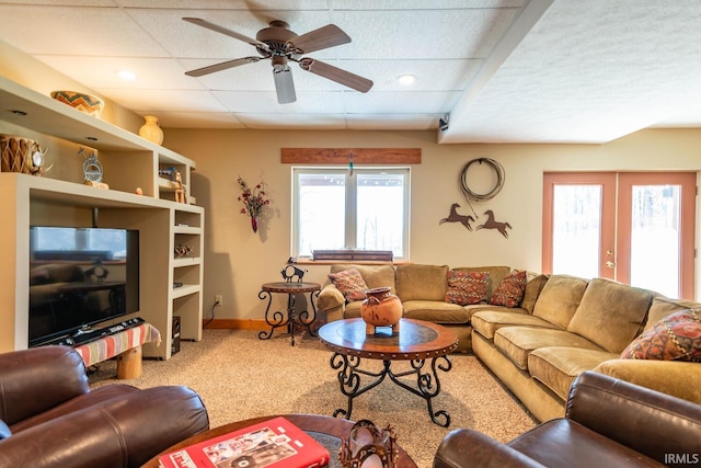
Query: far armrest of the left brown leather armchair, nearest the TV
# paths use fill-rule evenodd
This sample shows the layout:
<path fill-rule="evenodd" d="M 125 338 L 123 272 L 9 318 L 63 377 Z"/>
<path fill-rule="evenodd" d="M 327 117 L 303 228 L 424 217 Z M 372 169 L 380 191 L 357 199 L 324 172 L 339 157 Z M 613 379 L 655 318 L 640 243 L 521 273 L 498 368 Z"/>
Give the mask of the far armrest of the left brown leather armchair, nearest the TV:
<path fill-rule="evenodd" d="M 0 354 L 0 420 L 9 426 L 89 390 L 85 364 L 70 346 Z"/>

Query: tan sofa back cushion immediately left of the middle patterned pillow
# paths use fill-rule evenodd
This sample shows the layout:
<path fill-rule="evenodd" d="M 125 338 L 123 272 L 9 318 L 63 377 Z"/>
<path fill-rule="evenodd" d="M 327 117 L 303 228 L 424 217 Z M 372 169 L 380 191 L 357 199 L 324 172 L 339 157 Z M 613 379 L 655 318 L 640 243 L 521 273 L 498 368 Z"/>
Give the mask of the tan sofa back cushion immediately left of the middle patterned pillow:
<path fill-rule="evenodd" d="M 395 294 L 402 301 L 445 301 L 448 292 L 448 265 L 399 265 Z"/>

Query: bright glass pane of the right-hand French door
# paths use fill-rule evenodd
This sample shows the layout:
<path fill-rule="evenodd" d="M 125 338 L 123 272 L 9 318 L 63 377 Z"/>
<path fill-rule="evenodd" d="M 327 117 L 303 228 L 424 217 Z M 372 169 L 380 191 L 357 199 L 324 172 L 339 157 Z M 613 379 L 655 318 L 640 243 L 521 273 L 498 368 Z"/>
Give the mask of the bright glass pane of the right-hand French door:
<path fill-rule="evenodd" d="M 634 185 L 631 285 L 679 297 L 679 185 Z"/>

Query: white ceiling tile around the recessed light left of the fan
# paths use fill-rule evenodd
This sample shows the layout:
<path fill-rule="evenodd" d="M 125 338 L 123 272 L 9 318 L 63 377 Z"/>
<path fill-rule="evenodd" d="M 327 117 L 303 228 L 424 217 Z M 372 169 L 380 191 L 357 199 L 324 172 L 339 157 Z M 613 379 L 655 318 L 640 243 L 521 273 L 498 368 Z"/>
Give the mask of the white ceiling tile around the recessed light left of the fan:
<path fill-rule="evenodd" d="M 80 57 L 37 55 L 39 60 L 65 73 L 80 77 L 90 88 L 124 89 L 204 89 L 195 79 L 185 76 L 177 61 L 166 58 L 141 57 Z M 136 75 L 134 80 L 118 76 L 122 70 Z"/>

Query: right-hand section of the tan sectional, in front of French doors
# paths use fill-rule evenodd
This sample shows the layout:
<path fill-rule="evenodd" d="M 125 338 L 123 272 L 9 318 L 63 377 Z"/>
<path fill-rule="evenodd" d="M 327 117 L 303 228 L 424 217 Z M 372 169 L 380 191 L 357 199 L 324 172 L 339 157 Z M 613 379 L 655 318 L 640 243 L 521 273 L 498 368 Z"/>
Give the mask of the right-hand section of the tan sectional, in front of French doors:
<path fill-rule="evenodd" d="M 701 403 L 701 364 L 620 358 L 666 316 L 701 304 L 602 278 L 550 276 L 532 315 L 472 316 L 474 354 L 540 421 L 562 418 L 574 379 L 602 374 Z"/>

